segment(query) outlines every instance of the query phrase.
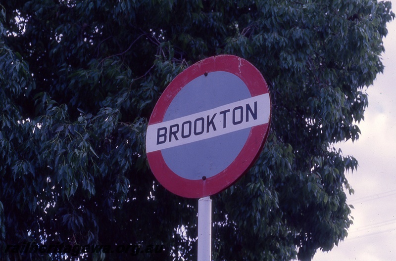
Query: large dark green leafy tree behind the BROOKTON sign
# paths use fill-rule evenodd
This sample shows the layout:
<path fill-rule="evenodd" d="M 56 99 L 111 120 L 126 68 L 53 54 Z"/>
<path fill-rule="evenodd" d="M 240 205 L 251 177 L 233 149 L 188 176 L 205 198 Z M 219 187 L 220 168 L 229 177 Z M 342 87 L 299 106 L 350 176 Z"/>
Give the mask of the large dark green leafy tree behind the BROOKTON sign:
<path fill-rule="evenodd" d="M 164 88 L 216 54 L 241 56 L 262 72 L 273 115 L 254 167 L 212 196 L 213 260 L 310 260 L 347 236 L 346 173 L 357 160 L 335 144 L 359 137 L 366 87 L 384 69 L 390 2 L 13 0 L 0 7 L 3 249 L 158 244 L 162 254 L 136 258 L 195 259 L 197 200 L 157 183 L 144 140 Z M 124 257 L 104 252 L 84 259 Z"/>

